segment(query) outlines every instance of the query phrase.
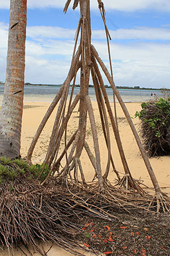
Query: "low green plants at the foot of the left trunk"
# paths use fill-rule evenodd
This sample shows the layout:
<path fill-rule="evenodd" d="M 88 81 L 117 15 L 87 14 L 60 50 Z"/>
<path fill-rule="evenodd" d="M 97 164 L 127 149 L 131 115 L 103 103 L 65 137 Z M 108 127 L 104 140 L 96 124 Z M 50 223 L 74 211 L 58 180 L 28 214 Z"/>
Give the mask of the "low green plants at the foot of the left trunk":
<path fill-rule="evenodd" d="M 14 181 L 16 177 L 25 176 L 27 179 L 37 179 L 44 181 L 49 173 L 47 165 L 29 165 L 23 159 L 9 160 L 5 157 L 0 158 L 0 184 L 5 181 Z"/>

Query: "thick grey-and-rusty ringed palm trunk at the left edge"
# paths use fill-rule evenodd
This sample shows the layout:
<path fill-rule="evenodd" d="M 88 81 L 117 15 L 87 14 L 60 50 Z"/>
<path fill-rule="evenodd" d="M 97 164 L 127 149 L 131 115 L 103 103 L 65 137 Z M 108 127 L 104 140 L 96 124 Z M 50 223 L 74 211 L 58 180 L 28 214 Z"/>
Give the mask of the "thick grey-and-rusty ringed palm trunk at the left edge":
<path fill-rule="evenodd" d="M 0 156 L 20 156 L 25 83 L 27 0 L 11 0 L 5 91 L 0 115 Z"/>

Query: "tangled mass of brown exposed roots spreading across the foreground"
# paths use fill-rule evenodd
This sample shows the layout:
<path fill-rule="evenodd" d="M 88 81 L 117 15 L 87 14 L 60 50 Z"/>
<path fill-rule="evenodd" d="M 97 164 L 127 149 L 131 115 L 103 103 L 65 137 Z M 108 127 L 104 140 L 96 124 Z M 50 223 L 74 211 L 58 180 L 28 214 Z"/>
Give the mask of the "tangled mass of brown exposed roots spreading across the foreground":
<path fill-rule="evenodd" d="M 152 199 L 137 191 L 117 189 L 109 181 L 104 181 L 101 192 L 98 182 L 84 186 L 50 177 L 42 186 L 28 177 L 27 172 L 17 175 L 0 187 L 0 244 L 6 245 L 9 253 L 23 243 L 44 255 L 36 241 L 41 239 L 82 255 L 77 250 L 84 247 L 77 238 L 84 217 L 119 221 L 114 213 L 157 210 L 158 197 Z M 168 202 L 159 195 L 159 210 L 169 209 Z"/>

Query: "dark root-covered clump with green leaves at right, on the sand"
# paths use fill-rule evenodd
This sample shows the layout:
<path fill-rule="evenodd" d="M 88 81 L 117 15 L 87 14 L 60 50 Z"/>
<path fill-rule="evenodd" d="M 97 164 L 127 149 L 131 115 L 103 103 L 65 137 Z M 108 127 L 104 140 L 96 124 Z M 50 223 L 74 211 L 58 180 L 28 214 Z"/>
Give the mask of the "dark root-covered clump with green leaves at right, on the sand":
<path fill-rule="evenodd" d="M 141 124 L 139 135 L 149 157 L 170 154 L 170 98 L 141 104 L 135 113 Z"/>

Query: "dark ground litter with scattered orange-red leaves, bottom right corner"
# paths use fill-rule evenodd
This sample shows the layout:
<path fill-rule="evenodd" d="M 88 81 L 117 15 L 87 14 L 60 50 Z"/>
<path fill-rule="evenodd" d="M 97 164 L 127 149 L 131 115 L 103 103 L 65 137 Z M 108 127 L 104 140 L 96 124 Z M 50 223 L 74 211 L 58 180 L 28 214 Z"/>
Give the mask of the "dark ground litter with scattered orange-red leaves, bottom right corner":
<path fill-rule="evenodd" d="M 101 255 L 167 256 L 170 252 L 168 215 L 115 213 L 118 220 L 84 219 L 84 247 Z M 97 253 L 98 254 L 98 253 Z"/>

